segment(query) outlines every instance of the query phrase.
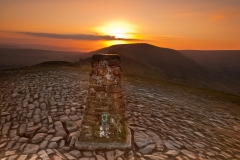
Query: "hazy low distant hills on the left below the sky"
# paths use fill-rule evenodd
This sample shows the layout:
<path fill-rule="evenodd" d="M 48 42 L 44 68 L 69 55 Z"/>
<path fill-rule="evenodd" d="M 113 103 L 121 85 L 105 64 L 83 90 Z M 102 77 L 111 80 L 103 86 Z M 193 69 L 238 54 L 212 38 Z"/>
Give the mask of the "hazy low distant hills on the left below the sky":
<path fill-rule="evenodd" d="M 6 47 L 6 46 L 5 46 Z M 16 66 L 29 66 L 44 61 L 70 61 L 79 60 L 80 52 L 49 51 L 23 48 L 0 48 L 0 69 Z"/>

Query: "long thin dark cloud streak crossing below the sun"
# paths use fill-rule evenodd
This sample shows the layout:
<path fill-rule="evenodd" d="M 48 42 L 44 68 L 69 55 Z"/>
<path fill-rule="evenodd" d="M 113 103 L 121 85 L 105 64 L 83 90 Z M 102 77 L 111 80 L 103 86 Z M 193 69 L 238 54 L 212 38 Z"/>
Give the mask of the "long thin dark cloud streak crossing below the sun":
<path fill-rule="evenodd" d="M 73 39 L 73 40 L 126 40 L 134 41 L 138 39 L 116 38 L 110 35 L 99 34 L 56 34 L 56 33 L 41 33 L 41 32 L 17 32 L 34 37 L 56 38 L 56 39 Z"/>

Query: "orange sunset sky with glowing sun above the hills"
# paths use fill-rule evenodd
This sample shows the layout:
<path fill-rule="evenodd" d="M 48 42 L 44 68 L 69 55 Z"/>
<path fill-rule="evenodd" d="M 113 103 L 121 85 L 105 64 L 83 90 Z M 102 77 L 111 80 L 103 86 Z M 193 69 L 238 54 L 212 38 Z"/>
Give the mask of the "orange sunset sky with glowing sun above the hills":
<path fill-rule="evenodd" d="M 0 0 L 0 44 L 240 49 L 240 0 Z"/>

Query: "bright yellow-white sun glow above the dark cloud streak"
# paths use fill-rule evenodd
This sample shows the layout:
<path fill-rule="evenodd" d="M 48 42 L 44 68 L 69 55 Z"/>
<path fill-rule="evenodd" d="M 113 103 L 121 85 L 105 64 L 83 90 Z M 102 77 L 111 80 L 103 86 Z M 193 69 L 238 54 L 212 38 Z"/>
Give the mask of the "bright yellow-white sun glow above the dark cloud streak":
<path fill-rule="evenodd" d="M 133 25 L 125 22 L 111 22 L 97 28 L 97 31 L 104 35 L 114 36 L 116 39 L 134 39 L 135 32 Z"/>

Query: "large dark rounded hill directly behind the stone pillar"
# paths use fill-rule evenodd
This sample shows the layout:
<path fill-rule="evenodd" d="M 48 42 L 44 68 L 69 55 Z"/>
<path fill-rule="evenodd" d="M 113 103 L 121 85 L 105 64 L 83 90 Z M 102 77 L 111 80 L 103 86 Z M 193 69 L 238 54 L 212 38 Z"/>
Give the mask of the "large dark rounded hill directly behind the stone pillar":
<path fill-rule="evenodd" d="M 93 54 L 117 53 L 124 73 L 170 80 L 198 87 L 237 93 L 240 82 L 211 71 L 179 51 L 145 43 L 121 44 L 85 54 L 90 64 Z"/>

